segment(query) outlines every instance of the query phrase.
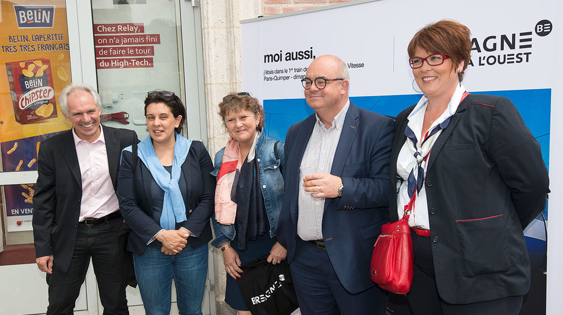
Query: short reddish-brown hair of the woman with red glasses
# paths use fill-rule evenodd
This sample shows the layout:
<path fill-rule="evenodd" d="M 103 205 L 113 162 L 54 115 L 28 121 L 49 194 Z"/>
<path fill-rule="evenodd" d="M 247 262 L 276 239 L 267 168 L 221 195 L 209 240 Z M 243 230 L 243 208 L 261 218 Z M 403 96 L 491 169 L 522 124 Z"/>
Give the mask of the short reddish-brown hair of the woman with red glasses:
<path fill-rule="evenodd" d="M 463 70 L 459 73 L 459 81 L 471 62 L 471 31 L 467 26 L 450 20 L 441 20 L 426 25 L 414 34 L 407 51 L 409 58 L 414 57 L 417 47 L 430 53 L 444 53 L 452 59 L 452 69 L 464 61 Z"/>

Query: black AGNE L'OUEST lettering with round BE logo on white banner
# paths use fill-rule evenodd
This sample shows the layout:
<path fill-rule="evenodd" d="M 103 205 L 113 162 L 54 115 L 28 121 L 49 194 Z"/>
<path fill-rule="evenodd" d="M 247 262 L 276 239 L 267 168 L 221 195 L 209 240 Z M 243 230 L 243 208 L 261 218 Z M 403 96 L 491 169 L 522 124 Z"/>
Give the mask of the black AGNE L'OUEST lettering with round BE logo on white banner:
<path fill-rule="evenodd" d="M 471 66 L 493 66 L 521 64 L 531 61 L 532 39 L 534 32 L 539 37 L 551 33 L 553 25 L 548 20 L 541 20 L 533 31 L 520 31 L 511 34 L 490 35 L 471 40 Z"/>

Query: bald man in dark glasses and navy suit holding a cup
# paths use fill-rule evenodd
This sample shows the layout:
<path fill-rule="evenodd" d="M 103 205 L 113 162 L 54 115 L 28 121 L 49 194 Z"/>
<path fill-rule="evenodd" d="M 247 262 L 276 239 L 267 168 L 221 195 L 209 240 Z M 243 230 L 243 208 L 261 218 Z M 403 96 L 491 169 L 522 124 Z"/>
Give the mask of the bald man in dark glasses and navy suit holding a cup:
<path fill-rule="evenodd" d="M 348 100 L 348 69 L 338 57 L 315 59 L 302 82 L 315 114 L 287 132 L 276 230 L 301 312 L 383 314 L 387 294 L 369 267 L 388 222 L 393 120 Z"/>

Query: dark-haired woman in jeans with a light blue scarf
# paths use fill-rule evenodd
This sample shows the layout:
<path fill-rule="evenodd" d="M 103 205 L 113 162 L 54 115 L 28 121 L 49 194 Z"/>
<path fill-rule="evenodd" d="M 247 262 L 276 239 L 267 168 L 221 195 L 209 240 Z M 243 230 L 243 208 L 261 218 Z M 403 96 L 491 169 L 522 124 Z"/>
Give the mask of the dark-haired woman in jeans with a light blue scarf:
<path fill-rule="evenodd" d="M 149 92 L 149 136 L 138 143 L 138 158 L 131 146 L 123 150 L 119 168 L 119 206 L 132 230 L 127 250 L 151 315 L 169 314 L 172 280 L 180 314 L 202 314 L 215 178 L 203 143 L 180 135 L 185 117 L 174 93 Z"/>

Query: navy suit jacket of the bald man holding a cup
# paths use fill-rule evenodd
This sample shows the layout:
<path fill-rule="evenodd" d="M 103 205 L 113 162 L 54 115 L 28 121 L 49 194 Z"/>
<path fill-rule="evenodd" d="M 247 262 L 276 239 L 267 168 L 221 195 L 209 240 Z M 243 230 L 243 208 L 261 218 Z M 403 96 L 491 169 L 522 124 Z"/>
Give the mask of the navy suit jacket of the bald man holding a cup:
<path fill-rule="evenodd" d="M 276 235 L 291 262 L 297 241 L 299 169 L 315 114 L 285 137 L 285 194 Z M 350 293 L 369 289 L 373 244 L 388 220 L 389 159 L 394 122 L 350 102 L 330 174 L 342 178 L 342 197 L 325 199 L 323 239 L 338 279 Z"/>

